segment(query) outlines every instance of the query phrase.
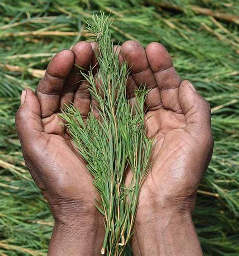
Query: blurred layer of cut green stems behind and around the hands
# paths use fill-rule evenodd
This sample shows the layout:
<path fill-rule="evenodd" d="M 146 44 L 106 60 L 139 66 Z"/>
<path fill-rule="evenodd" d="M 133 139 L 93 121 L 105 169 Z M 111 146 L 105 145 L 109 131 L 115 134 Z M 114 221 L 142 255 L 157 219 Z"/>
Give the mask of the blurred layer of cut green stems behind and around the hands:
<path fill-rule="evenodd" d="M 59 50 L 111 13 L 114 42 L 163 43 L 183 79 L 210 102 L 215 139 L 194 221 L 205 255 L 239 255 L 239 2 L 224 0 L 0 1 L 0 255 L 46 254 L 53 219 L 25 169 L 14 115 Z"/>

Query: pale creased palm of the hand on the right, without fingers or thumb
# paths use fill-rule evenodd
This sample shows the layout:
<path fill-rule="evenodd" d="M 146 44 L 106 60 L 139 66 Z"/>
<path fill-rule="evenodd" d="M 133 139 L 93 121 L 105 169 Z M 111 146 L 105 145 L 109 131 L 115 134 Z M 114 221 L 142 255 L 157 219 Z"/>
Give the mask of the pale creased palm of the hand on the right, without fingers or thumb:
<path fill-rule="evenodd" d="M 189 173 L 186 174 L 184 170 L 192 163 L 192 159 L 188 158 L 188 152 L 189 150 L 192 152 L 197 142 L 184 130 L 186 127 L 184 114 L 160 109 L 149 111 L 145 118 L 147 134 L 149 137 L 154 137 L 157 142 L 152 152 L 152 169 L 143 189 L 148 190 L 146 192 L 149 193 L 154 191 L 158 198 L 165 198 L 168 195 L 173 197 L 178 193 L 173 191 L 178 186 L 187 189 L 195 183 L 192 180 L 189 184 L 187 180 Z"/>

